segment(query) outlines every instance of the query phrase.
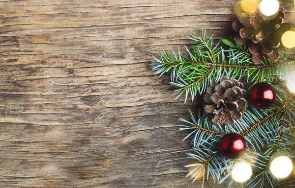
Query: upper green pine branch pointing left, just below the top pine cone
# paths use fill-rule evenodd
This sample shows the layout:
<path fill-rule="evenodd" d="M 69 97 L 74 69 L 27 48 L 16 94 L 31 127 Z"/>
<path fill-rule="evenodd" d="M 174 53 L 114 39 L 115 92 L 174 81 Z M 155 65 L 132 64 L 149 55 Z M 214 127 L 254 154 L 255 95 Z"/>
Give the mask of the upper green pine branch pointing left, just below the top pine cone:
<path fill-rule="evenodd" d="M 281 75 L 289 75 L 295 65 L 288 52 L 285 52 L 284 61 L 271 62 L 264 58 L 256 65 L 251 61 L 248 46 L 240 46 L 236 39 L 229 38 L 221 40 L 227 48 L 219 47 L 219 43 L 213 44 L 213 35 L 207 39 L 205 34 L 206 30 L 203 30 L 202 38 L 194 34 L 189 37 L 194 41 L 193 52 L 185 47 L 190 58 L 182 55 L 179 49 L 177 54 L 172 50 L 172 56 L 160 51 L 161 59 L 154 57 L 156 61 L 150 64 L 154 74 L 171 71 L 170 84 L 179 88 L 175 91 L 176 98 L 185 94 L 186 101 L 190 94 L 193 100 L 223 75 L 231 75 L 234 79 L 244 77 L 251 82 L 277 81 Z"/>

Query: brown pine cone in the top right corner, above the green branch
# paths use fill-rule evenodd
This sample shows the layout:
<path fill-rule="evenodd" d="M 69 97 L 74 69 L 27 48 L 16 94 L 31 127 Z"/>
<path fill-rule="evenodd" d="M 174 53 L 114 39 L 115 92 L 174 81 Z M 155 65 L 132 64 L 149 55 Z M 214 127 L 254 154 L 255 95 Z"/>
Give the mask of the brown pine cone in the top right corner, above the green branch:
<path fill-rule="evenodd" d="M 252 43 L 249 50 L 256 64 L 261 63 L 263 56 L 270 61 L 278 60 L 282 35 L 295 28 L 293 23 L 284 23 L 285 10 L 282 6 L 272 20 L 268 20 L 259 10 L 247 14 L 242 9 L 236 10 L 236 19 L 232 26 L 239 33 L 237 41 L 240 45 Z"/>

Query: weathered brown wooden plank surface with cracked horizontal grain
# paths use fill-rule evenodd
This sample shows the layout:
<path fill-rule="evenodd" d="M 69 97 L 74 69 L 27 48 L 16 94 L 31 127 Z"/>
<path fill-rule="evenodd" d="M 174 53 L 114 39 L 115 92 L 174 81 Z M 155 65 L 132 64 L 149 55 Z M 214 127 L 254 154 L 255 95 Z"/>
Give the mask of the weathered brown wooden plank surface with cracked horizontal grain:
<path fill-rule="evenodd" d="M 148 63 L 202 27 L 228 36 L 236 2 L 0 0 L 0 188 L 200 188 L 177 131 L 196 102 Z"/>

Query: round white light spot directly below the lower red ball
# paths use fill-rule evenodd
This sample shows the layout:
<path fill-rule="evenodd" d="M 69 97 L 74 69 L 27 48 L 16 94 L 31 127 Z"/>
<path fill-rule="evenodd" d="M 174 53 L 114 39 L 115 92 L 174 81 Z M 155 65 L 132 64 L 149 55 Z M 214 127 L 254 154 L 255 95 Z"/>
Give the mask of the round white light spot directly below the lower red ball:
<path fill-rule="evenodd" d="M 233 179 L 236 182 L 245 182 L 252 175 L 252 168 L 250 164 L 247 163 L 237 163 L 232 171 Z"/>

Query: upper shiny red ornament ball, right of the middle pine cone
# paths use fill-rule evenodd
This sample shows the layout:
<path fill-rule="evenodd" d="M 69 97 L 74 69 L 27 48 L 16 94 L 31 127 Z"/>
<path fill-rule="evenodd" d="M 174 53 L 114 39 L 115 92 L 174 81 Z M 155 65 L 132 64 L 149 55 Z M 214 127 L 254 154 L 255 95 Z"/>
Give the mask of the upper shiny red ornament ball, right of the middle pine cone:
<path fill-rule="evenodd" d="M 250 89 L 250 100 L 253 106 L 266 109 L 273 105 L 275 101 L 275 91 L 267 83 L 257 83 Z"/>

